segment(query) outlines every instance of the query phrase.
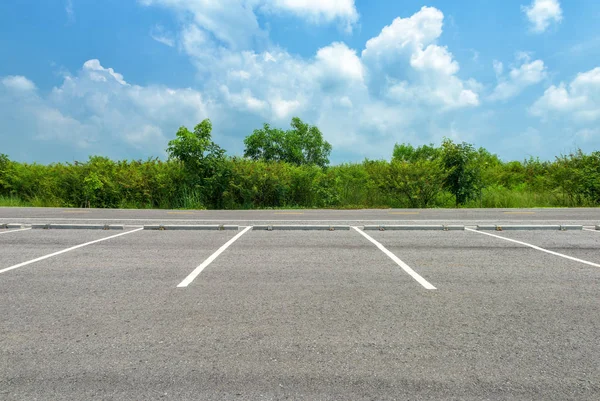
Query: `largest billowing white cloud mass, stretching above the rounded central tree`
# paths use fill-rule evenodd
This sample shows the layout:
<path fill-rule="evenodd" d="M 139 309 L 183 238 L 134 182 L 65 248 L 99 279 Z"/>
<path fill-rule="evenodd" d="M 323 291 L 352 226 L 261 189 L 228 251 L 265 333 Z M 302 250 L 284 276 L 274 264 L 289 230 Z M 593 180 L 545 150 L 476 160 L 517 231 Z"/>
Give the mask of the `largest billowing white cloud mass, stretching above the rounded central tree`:
<path fill-rule="evenodd" d="M 200 7 L 202 1 L 187 4 L 187 8 L 183 0 L 152 1 L 171 4 L 177 12 L 190 16 L 191 20 L 181 25 L 180 48 L 204 77 L 202 92 L 222 106 L 229 120 L 269 121 L 281 126 L 299 115 L 318 123 L 334 148 L 360 149 L 361 154 L 380 157 L 383 147 L 407 140 L 398 133 L 410 132 L 420 120 L 439 117 L 443 124 L 447 111 L 480 103 L 481 85 L 459 78 L 459 63 L 447 47 L 437 43 L 444 15 L 436 8 L 424 7 L 412 16 L 395 19 L 362 50 L 334 42 L 312 57 L 301 58 L 268 42 L 257 44 L 263 32 L 253 23 L 247 24 L 254 28 L 244 40 L 223 40 L 207 23 L 216 11 Z M 250 10 L 259 2 L 235 4 L 245 4 Z M 266 2 L 261 4 L 267 7 Z M 270 2 L 268 9 L 285 5 L 300 10 L 313 2 Z M 315 13 L 337 10 L 325 15 L 338 17 L 350 15 L 343 10 L 354 9 L 353 2 L 347 1 L 321 1 L 309 8 Z M 200 10 L 204 10 L 202 18 L 198 17 Z M 252 37 L 254 45 L 246 48 L 244 41 Z M 236 127 L 229 130 L 235 135 Z M 239 128 L 237 132 L 239 136 Z M 441 130 L 432 134 L 435 137 L 423 138 L 437 140 L 438 134 Z"/>

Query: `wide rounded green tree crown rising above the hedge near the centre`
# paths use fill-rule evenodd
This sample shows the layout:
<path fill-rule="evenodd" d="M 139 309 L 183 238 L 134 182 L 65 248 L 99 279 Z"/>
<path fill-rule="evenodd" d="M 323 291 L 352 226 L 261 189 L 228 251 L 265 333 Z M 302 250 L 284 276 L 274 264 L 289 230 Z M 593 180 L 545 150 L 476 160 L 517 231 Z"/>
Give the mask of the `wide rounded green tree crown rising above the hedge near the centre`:
<path fill-rule="evenodd" d="M 310 126 L 298 117 L 291 123 L 292 129 L 283 131 L 264 124 L 262 129 L 244 139 L 244 156 L 252 160 L 285 162 L 297 166 L 329 164 L 331 145 L 315 126 Z"/>

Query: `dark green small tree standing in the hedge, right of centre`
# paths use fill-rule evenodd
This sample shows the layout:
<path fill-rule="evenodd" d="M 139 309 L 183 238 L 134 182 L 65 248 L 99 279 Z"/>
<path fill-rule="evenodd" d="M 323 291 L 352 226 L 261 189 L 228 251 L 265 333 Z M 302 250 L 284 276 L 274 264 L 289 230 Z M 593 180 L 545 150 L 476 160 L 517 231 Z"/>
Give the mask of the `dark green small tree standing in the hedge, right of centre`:
<path fill-rule="evenodd" d="M 444 187 L 456 198 L 456 206 L 465 204 L 479 194 L 481 168 L 478 152 L 469 143 L 442 142 L 442 166 L 446 170 Z"/>

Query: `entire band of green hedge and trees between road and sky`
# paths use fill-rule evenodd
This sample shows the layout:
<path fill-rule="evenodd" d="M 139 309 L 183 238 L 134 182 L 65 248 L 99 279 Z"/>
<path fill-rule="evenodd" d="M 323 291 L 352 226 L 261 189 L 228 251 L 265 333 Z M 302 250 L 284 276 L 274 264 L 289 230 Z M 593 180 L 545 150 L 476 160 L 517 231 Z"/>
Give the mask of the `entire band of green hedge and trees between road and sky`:
<path fill-rule="evenodd" d="M 0 154 L 0 206 L 163 209 L 578 207 L 600 205 L 600 151 L 553 161 L 505 162 L 486 149 L 445 139 L 398 144 L 391 160 L 330 166 L 331 145 L 294 118 L 265 124 L 245 140 L 244 157 L 212 141 L 209 120 L 181 127 L 167 161 L 49 165 Z"/>

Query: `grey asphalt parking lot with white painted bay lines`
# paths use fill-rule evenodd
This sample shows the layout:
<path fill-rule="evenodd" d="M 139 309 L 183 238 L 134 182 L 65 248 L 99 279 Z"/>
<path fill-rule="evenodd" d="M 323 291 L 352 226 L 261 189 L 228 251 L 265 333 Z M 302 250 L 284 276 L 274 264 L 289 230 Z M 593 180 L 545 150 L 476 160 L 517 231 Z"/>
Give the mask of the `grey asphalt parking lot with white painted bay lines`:
<path fill-rule="evenodd" d="M 460 212 L 446 220 L 464 231 L 361 228 L 427 220 L 413 211 L 333 213 L 363 223 L 335 231 L 17 212 L 0 210 L 25 224 L 0 229 L 1 399 L 600 399 L 595 211 L 481 218 L 584 224 L 569 231 L 477 231 Z M 292 218 L 270 213 L 253 220 Z M 43 219 L 125 227 L 27 226 Z"/>

